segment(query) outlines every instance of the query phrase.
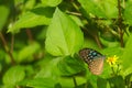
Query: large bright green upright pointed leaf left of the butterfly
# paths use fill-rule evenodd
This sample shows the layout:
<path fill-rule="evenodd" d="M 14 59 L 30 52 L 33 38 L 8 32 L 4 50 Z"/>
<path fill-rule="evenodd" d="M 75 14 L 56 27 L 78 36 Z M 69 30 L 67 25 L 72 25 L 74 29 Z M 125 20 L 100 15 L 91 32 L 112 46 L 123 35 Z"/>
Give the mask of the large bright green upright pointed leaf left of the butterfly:
<path fill-rule="evenodd" d="M 79 26 L 56 8 L 46 33 L 46 51 L 54 56 L 73 55 L 82 43 L 84 35 Z"/>

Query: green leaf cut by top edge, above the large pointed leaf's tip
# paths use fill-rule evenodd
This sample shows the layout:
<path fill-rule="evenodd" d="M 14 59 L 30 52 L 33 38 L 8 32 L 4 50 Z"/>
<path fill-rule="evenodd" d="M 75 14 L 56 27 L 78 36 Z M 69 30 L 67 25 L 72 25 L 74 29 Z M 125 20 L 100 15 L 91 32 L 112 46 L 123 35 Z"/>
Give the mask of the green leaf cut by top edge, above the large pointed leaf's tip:
<path fill-rule="evenodd" d="M 43 4 L 48 7 L 57 7 L 63 0 L 41 0 Z"/>

